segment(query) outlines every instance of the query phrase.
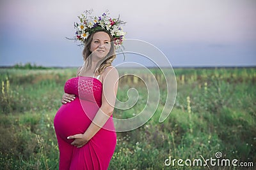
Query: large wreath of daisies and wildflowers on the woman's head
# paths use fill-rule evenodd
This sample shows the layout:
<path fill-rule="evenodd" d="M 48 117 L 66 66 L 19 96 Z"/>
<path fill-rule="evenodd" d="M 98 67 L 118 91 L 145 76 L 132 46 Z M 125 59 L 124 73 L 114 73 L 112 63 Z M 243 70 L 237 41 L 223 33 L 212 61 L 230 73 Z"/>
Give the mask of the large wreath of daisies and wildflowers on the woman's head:
<path fill-rule="evenodd" d="M 124 40 L 126 32 L 122 30 L 120 25 L 125 24 L 120 18 L 109 17 L 108 10 L 100 17 L 91 16 L 93 10 L 86 10 L 78 16 L 80 23 L 75 22 L 76 29 L 75 40 L 81 41 L 82 45 L 90 34 L 99 30 L 106 30 L 110 32 L 114 38 L 115 49 L 118 49 Z"/>

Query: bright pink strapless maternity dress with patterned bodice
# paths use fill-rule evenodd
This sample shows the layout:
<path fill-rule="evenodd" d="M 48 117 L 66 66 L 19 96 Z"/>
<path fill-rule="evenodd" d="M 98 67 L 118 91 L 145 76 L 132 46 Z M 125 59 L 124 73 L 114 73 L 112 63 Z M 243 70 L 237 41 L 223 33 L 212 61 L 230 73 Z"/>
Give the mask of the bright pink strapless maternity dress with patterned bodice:
<path fill-rule="evenodd" d="M 116 146 L 113 118 L 81 148 L 70 145 L 74 134 L 83 134 L 101 106 L 102 83 L 97 78 L 79 76 L 65 83 L 64 91 L 76 99 L 63 104 L 54 118 L 60 150 L 59 169 L 108 169 Z M 108 130 L 107 130 L 108 129 Z"/>

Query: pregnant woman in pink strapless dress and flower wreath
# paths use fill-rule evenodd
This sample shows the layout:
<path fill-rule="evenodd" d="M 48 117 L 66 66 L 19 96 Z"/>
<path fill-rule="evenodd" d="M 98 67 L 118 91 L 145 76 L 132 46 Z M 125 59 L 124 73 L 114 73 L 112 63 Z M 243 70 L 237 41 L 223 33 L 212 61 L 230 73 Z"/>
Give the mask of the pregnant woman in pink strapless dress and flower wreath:
<path fill-rule="evenodd" d="M 60 150 L 59 169 L 108 169 L 116 146 L 112 113 L 118 71 L 111 63 L 125 32 L 119 18 L 79 17 L 76 39 L 84 43 L 84 64 L 65 83 L 62 103 L 54 118 Z"/>

